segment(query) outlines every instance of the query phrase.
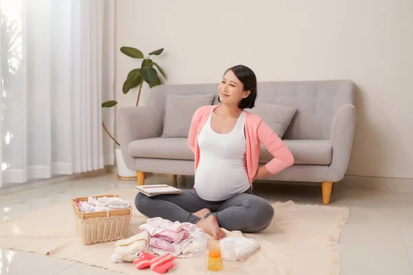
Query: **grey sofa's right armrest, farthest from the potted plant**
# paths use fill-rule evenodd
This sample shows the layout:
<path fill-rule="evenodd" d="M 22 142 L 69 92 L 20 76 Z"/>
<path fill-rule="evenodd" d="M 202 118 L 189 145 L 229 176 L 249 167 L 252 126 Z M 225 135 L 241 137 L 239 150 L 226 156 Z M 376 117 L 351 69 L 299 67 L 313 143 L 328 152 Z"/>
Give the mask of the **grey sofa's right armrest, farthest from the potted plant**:
<path fill-rule="evenodd" d="M 326 181 L 336 182 L 343 179 L 350 160 L 355 126 L 356 109 L 354 105 L 341 106 L 332 120 L 330 131 L 332 159 Z"/>

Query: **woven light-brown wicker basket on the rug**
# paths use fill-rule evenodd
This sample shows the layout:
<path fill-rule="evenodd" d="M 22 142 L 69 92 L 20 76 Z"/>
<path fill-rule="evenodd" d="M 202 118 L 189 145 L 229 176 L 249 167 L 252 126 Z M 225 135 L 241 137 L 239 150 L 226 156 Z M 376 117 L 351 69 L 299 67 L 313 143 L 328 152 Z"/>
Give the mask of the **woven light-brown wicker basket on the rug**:
<path fill-rule="evenodd" d="M 99 197 L 118 197 L 117 195 L 102 195 Z M 107 210 L 100 212 L 81 212 L 77 203 L 87 201 L 88 197 L 80 197 L 72 200 L 76 229 L 81 235 L 85 245 L 94 243 L 105 243 L 107 241 L 118 241 L 125 239 L 129 222 L 131 219 L 132 208 Z"/>

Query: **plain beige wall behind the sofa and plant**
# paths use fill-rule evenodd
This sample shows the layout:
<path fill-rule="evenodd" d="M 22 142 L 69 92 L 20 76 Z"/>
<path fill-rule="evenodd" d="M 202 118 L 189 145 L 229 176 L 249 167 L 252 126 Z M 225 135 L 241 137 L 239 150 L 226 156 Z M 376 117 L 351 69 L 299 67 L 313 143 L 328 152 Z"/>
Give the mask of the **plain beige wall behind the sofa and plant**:
<path fill-rule="evenodd" d="M 348 175 L 413 178 L 412 0 L 118 0 L 116 45 L 157 58 L 169 83 L 218 83 L 242 63 L 263 80 L 349 78 L 359 87 Z M 117 54 L 123 80 L 137 61 Z M 145 93 L 147 95 L 147 91 Z M 145 95 L 142 104 L 145 104 Z"/>

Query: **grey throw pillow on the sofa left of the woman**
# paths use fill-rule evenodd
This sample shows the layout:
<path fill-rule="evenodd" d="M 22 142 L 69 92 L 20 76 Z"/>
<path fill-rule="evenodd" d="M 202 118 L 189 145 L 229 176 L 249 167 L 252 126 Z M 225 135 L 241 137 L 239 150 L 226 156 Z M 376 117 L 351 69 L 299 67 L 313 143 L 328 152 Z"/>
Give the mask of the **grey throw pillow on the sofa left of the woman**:
<path fill-rule="evenodd" d="M 215 95 L 167 96 L 162 137 L 188 137 L 193 114 L 204 105 L 211 105 Z"/>

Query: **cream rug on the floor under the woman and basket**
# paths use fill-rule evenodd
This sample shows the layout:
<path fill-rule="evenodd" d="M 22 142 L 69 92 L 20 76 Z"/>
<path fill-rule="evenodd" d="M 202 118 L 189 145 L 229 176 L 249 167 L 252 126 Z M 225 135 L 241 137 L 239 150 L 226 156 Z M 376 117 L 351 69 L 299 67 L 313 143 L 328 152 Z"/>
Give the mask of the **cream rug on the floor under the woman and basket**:
<path fill-rule="evenodd" d="M 118 194 L 134 201 L 135 190 L 116 189 L 103 195 Z M 98 195 L 98 194 L 96 194 Z M 220 274 L 339 275 L 337 243 L 347 208 L 303 206 L 293 201 L 275 203 L 270 227 L 260 234 L 245 234 L 260 243 L 260 250 L 243 262 L 226 263 Z M 137 234 L 146 218 L 134 208 L 129 236 Z M 131 263 L 112 263 L 114 242 L 83 245 L 76 234 L 71 202 L 50 206 L 0 223 L 0 248 L 34 252 L 60 259 L 103 267 L 114 272 L 137 274 Z M 195 272 L 191 259 L 176 259 L 172 274 L 211 274 Z"/>

